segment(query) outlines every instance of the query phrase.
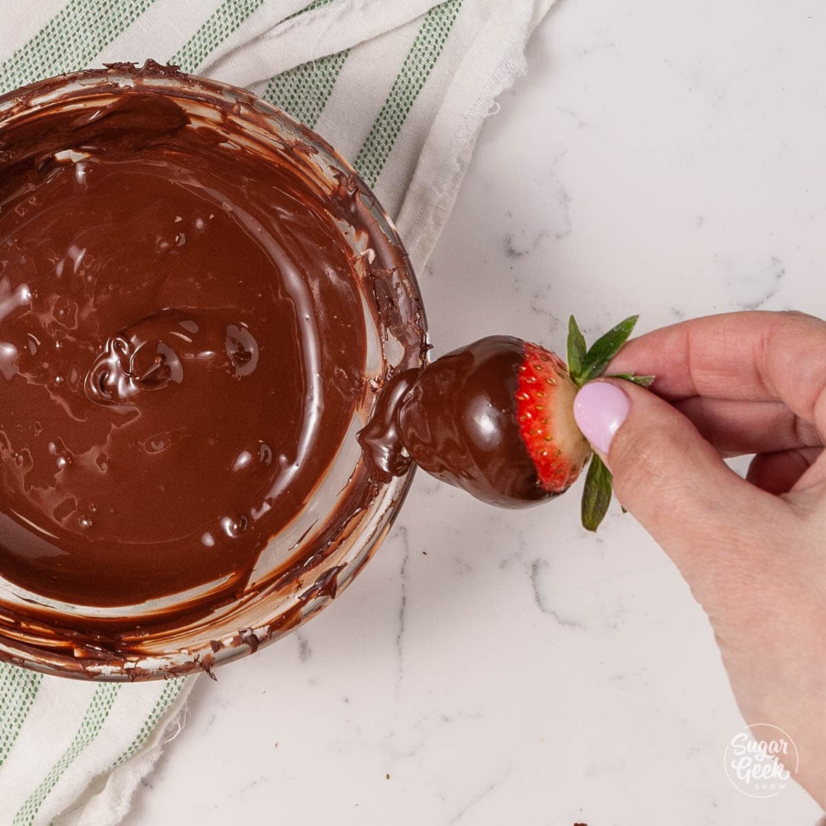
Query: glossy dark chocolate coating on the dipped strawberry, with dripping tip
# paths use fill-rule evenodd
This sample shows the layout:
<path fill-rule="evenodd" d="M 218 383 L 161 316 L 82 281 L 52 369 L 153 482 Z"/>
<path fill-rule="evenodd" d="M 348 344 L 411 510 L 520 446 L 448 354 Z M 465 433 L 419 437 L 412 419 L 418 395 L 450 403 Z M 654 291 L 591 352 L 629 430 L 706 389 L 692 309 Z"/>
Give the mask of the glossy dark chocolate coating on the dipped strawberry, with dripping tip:
<path fill-rule="evenodd" d="M 544 501 L 516 420 L 524 342 L 491 335 L 396 376 L 359 434 L 382 478 L 414 461 L 443 482 L 492 505 Z"/>

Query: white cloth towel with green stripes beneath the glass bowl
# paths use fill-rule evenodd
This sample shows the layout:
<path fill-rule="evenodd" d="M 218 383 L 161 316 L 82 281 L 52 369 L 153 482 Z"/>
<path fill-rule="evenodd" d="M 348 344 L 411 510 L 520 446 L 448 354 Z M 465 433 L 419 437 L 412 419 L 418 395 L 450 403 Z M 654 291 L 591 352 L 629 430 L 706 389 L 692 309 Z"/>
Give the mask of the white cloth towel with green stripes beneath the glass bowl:
<path fill-rule="evenodd" d="M 148 57 L 252 88 L 354 164 L 421 269 L 552 2 L 2 0 L 0 93 Z M 93 685 L 0 664 L 0 826 L 118 823 L 194 679 Z"/>

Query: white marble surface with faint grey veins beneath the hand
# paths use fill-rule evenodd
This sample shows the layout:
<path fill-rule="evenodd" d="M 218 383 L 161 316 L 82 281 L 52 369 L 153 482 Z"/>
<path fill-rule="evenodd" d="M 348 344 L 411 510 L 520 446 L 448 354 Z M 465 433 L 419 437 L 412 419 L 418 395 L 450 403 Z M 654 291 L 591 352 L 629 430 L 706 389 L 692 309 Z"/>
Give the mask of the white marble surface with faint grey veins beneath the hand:
<path fill-rule="evenodd" d="M 824 41 L 814 0 L 560 0 L 420 274 L 436 352 L 561 347 L 570 311 L 826 316 Z M 126 823 L 814 824 L 729 786 L 705 616 L 630 516 L 577 508 L 420 475 L 339 601 L 198 683 Z"/>

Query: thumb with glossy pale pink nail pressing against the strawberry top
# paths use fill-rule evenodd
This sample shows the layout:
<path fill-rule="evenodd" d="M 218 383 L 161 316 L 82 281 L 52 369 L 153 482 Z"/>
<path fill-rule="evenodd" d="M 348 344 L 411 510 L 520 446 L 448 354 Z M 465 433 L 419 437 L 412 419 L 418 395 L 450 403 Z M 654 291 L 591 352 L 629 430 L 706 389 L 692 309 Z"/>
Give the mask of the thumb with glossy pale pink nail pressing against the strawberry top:
<path fill-rule="evenodd" d="M 752 542 L 755 515 L 765 525 L 771 509 L 786 506 L 743 481 L 691 421 L 631 382 L 586 384 L 574 416 L 613 474 L 619 501 L 684 574 L 701 571 L 719 549 L 760 547 L 766 537 Z"/>

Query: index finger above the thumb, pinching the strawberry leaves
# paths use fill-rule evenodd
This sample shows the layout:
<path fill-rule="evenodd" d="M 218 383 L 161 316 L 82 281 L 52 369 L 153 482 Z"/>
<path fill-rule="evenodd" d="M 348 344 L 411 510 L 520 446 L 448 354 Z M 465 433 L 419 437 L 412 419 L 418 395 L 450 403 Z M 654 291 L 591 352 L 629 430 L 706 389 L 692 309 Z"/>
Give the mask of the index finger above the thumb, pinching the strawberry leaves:
<path fill-rule="evenodd" d="M 826 322 L 800 312 L 735 312 L 641 335 L 609 373 L 656 376 L 669 401 L 782 401 L 826 434 Z"/>

